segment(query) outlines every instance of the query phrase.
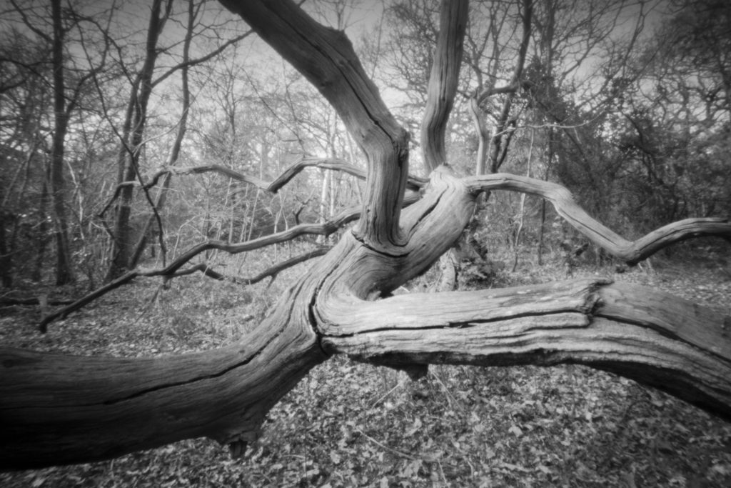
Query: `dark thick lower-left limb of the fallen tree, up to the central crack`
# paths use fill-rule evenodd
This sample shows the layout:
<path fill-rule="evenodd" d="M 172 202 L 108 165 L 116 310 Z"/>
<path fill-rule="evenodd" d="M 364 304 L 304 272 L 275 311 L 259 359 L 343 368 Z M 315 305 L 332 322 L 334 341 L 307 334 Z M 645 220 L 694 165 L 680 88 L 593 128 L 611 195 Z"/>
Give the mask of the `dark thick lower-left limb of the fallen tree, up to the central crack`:
<path fill-rule="evenodd" d="M 325 359 L 308 323 L 312 286 L 289 290 L 240 342 L 205 353 L 114 359 L 0 350 L 0 468 L 107 459 L 204 435 L 254 440 L 274 403 Z"/>

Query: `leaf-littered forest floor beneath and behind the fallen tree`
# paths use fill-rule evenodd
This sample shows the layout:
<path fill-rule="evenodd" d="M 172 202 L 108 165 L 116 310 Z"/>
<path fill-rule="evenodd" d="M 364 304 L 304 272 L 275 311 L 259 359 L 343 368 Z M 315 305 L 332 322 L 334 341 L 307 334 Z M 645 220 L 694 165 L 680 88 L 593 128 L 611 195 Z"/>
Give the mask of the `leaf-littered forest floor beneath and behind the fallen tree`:
<path fill-rule="evenodd" d="M 654 258 L 621 274 L 584 266 L 573 275 L 637 282 L 731 315 L 721 261 Z M 526 261 L 501 271 L 496 285 L 565 278 L 558 264 Z M 189 277 L 159 290 L 140 280 L 45 335 L 37 307 L 7 307 L 0 343 L 116 356 L 213 348 L 245 333 L 286 282 L 242 291 Z M 437 366 L 412 382 L 336 357 L 276 405 L 244 459 L 211 440 L 186 440 L 108 462 L 1 473 L 0 486 L 731 487 L 731 424 L 585 367 Z"/>

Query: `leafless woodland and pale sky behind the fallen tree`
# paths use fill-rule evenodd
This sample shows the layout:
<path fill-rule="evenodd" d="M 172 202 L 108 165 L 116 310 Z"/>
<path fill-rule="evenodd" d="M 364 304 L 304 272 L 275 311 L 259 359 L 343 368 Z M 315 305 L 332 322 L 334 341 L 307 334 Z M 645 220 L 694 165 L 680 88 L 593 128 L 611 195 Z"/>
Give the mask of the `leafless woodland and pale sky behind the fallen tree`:
<path fill-rule="evenodd" d="M 356 40 L 418 162 L 438 5 L 306 8 Z M 725 2 L 539 2 L 524 56 L 521 2 L 471 9 L 447 137 L 458 173 L 558 181 L 629 237 L 729 214 Z M 276 195 L 225 173 L 271 181 L 303 158 L 363 161 L 317 91 L 219 4 L 11 1 L 0 19 L 4 287 L 94 288 L 205 239 L 247 241 L 357 203 L 339 172 L 308 170 Z M 540 263 L 571 238 L 554 217 L 496 194 L 477 230 L 493 252 L 520 241 Z M 325 243 L 307 240 L 295 247 Z"/>

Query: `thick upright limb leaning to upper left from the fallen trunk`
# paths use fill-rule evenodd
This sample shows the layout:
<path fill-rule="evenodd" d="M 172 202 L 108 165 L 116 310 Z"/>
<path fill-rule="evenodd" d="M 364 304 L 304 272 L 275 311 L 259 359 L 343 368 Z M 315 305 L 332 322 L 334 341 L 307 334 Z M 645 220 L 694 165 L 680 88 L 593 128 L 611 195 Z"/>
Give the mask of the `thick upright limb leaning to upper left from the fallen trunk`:
<path fill-rule="evenodd" d="M 221 0 L 330 102 L 368 157 L 357 233 L 370 245 L 400 246 L 409 135 L 386 108 L 342 31 L 315 22 L 288 0 Z"/>

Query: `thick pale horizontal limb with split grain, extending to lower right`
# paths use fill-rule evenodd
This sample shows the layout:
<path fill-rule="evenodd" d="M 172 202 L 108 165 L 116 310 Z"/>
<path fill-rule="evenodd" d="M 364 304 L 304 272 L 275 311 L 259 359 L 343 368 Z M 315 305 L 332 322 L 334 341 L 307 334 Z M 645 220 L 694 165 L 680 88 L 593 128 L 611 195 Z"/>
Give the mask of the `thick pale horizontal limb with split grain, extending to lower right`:
<path fill-rule="evenodd" d="M 731 420 L 731 318 L 650 288 L 577 279 L 323 305 L 330 353 L 391 366 L 586 364 Z"/>

